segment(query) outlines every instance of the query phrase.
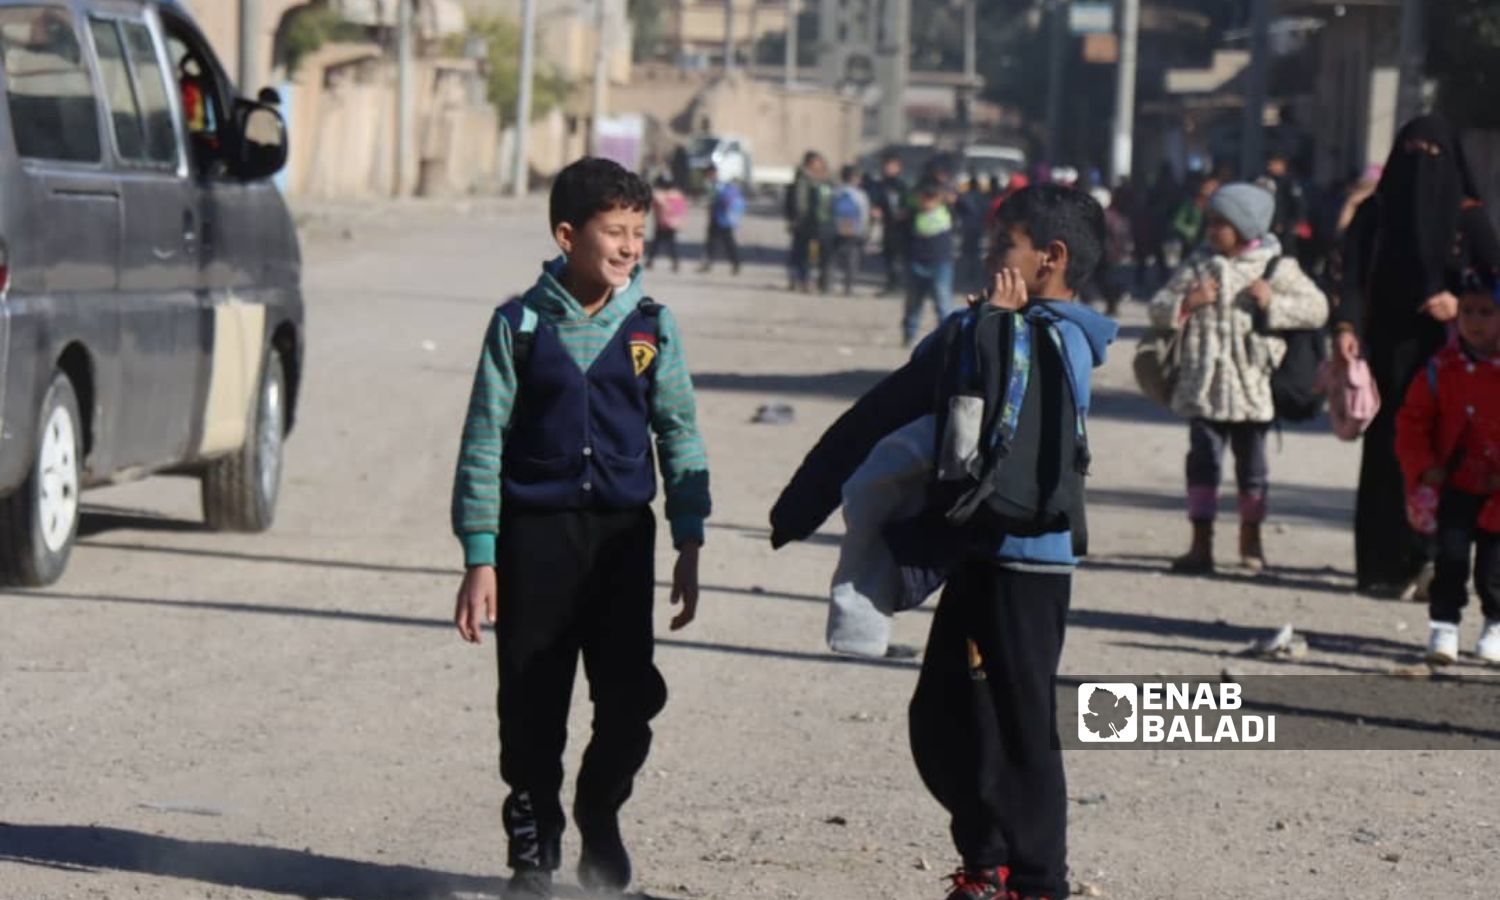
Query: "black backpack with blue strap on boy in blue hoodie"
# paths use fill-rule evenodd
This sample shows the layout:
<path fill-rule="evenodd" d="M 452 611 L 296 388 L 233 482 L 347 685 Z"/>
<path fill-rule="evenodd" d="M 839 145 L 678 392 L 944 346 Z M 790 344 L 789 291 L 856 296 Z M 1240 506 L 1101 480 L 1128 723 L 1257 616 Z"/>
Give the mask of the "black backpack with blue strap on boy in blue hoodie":
<path fill-rule="evenodd" d="M 940 570 L 1064 528 L 1086 554 L 1089 436 L 1056 327 L 986 306 L 938 340 L 933 482 L 924 513 L 886 528 L 897 562 Z"/>

